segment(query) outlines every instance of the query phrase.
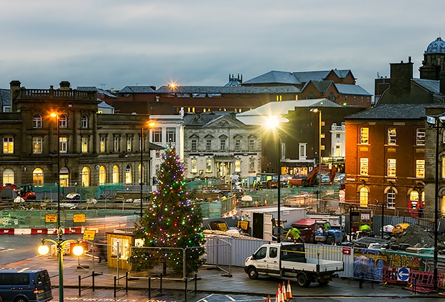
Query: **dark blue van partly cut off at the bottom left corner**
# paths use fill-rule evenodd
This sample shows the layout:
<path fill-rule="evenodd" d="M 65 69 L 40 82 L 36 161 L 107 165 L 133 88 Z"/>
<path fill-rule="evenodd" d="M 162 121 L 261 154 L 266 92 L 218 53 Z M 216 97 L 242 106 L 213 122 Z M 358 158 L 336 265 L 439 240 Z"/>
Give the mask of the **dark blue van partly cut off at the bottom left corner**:
<path fill-rule="evenodd" d="M 46 269 L 0 269 L 3 302 L 38 302 L 53 299 Z"/>

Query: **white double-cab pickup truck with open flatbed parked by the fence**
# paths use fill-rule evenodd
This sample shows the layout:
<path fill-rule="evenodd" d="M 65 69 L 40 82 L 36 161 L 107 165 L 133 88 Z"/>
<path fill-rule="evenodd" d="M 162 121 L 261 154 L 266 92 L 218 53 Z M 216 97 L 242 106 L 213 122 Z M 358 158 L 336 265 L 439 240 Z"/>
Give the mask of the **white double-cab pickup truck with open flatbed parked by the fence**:
<path fill-rule="evenodd" d="M 263 244 L 244 264 L 250 279 L 257 279 L 259 275 L 296 277 L 300 287 L 309 287 L 315 282 L 326 285 L 336 271 L 343 270 L 344 262 L 309 259 L 305 244 L 291 242 Z"/>

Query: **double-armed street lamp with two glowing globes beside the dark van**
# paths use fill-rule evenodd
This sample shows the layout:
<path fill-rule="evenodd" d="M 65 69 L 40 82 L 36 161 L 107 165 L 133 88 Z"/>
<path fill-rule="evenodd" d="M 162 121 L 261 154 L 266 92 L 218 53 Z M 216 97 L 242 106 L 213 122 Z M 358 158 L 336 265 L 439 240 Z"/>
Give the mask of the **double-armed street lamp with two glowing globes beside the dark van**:
<path fill-rule="evenodd" d="M 80 256 L 83 254 L 83 247 L 79 245 L 79 241 L 76 239 L 62 239 L 62 232 L 59 228 L 57 231 L 57 239 L 42 239 L 42 244 L 38 247 L 38 253 L 40 255 L 47 255 L 49 253 L 49 246 L 47 246 L 45 243 L 50 242 L 54 244 L 57 248 L 57 255 L 58 255 L 58 301 L 63 301 L 63 249 L 65 248 L 65 245 L 71 242 L 75 242 L 76 246 L 72 249 L 72 253 L 76 256 Z"/>

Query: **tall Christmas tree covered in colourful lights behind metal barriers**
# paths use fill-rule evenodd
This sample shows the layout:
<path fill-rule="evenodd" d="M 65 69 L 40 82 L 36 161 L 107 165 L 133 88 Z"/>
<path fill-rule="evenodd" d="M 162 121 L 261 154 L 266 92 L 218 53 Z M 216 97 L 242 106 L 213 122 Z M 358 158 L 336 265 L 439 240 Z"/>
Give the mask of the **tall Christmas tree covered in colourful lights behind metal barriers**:
<path fill-rule="evenodd" d="M 204 253 L 201 209 L 186 191 L 184 168 L 175 148 L 165 149 L 157 177 L 159 189 L 134 232 L 143 239 L 144 248 L 133 248 L 130 262 L 137 271 L 157 264 L 162 264 L 163 273 L 167 267 L 182 271 L 185 253 L 186 272 L 196 272 Z"/>

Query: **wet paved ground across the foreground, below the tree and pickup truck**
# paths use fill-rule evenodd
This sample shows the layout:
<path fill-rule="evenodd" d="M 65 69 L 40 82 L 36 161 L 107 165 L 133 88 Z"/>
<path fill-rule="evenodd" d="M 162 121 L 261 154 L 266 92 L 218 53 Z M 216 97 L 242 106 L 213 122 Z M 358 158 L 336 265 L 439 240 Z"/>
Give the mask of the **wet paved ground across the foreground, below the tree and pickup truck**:
<path fill-rule="evenodd" d="M 58 299 L 58 260 L 56 255 L 52 256 L 35 256 L 27 260 L 3 265 L 7 268 L 44 268 L 49 272 L 51 277 L 51 285 L 54 287 L 53 295 L 54 301 Z M 95 272 L 95 292 L 86 287 L 92 286 L 92 271 Z M 185 301 L 185 285 L 181 276 L 175 273 L 163 276 L 162 291 L 159 280 L 159 271 L 149 271 L 143 273 L 131 273 L 128 280 L 129 292 L 121 290 L 116 293 L 118 301 Z M 80 297 L 88 297 L 88 301 L 106 301 L 114 298 L 114 278 L 125 276 L 125 271 L 116 268 L 108 267 L 106 262 L 97 263 L 97 259 L 93 261 L 90 255 L 82 255 L 75 257 L 72 255 L 64 255 L 63 257 L 63 287 L 65 301 L 86 301 L 79 297 L 79 276 L 81 280 Z M 147 276 L 152 277 L 150 280 L 151 291 L 148 292 L 149 280 Z M 321 286 L 316 283 L 308 288 L 298 287 L 295 279 L 289 279 L 291 284 L 291 292 L 294 297 L 293 301 L 298 298 L 320 297 L 320 298 L 352 298 L 352 297 L 367 297 L 367 298 L 388 298 L 388 299 L 419 299 L 424 298 L 438 298 L 434 294 L 414 293 L 407 290 L 403 285 L 383 285 L 382 283 L 374 284 L 371 288 L 371 282 L 365 281 L 364 288 L 359 288 L 358 280 L 351 280 L 346 278 L 334 278 L 328 285 Z M 257 280 L 250 280 L 247 273 L 244 272 L 243 267 L 202 267 L 197 272 L 197 294 L 188 294 L 187 301 L 200 301 L 200 297 L 205 294 L 237 294 L 237 295 L 252 295 L 263 297 L 266 299 L 269 295 L 271 301 L 275 301 L 277 293 L 277 285 L 282 284 L 283 281 L 287 285 L 287 279 L 259 277 Z M 118 288 L 125 285 L 125 278 L 119 280 Z M 194 289 L 195 282 L 187 283 L 187 291 Z M 169 299 L 166 296 L 170 297 Z M 160 299 L 147 300 L 148 297 L 160 297 Z M 91 299 L 95 297 L 95 299 Z M 109 300 L 111 301 L 111 300 Z M 113 299 L 113 301 L 117 301 Z M 202 300 L 205 301 L 205 300 Z M 291 300 L 292 301 L 292 300 Z"/>

